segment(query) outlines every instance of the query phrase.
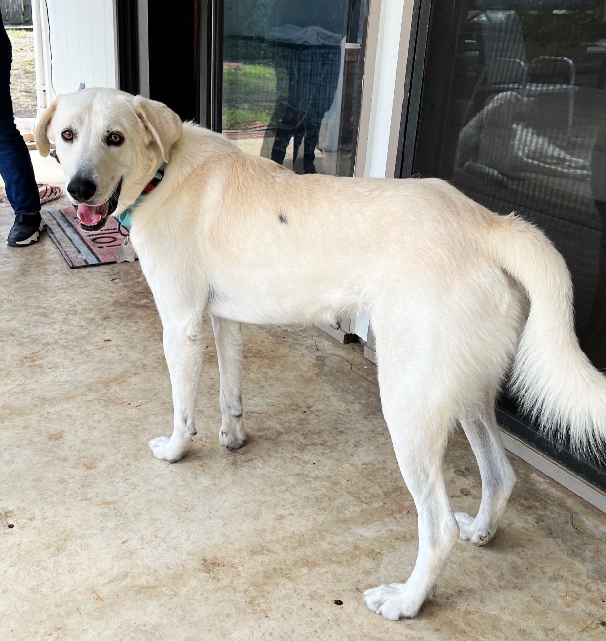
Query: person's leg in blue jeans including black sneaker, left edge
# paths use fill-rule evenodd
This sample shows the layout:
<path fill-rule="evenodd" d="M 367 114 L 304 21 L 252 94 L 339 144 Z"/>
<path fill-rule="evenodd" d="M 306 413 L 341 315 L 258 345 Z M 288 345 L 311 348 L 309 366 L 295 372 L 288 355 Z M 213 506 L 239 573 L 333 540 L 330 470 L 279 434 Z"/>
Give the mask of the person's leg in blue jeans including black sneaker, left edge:
<path fill-rule="evenodd" d="M 0 12 L 0 174 L 6 185 L 6 197 L 15 212 L 8 244 L 23 246 L 38 240 L 44 222 L 28 147 L 13 119 L 11 63 L 12 47 Z"/>

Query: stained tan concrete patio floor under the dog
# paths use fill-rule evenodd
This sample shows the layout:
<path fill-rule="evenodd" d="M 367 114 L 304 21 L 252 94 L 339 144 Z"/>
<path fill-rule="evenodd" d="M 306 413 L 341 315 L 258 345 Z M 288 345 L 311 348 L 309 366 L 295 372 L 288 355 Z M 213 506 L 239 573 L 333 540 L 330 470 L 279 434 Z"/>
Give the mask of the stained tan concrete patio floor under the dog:
<path fill-rule="evenodd" d="M 207 323 L 198 436 L 159 462 L 170 383 L 139 265 L 70 270 L 46 235 L 4 246 L 11 223 L 3 205 L 3 641 L 606 639 L 606 515 L 514 457 L 495 540 L 459 542 L 416 619 L 370 612 L 363 590 L 413 568 L 416 513 L 359 347 L 246 327 L 249 440 L 228 452 Z M 475 513 L 461 432 L 446 478 Z"/>

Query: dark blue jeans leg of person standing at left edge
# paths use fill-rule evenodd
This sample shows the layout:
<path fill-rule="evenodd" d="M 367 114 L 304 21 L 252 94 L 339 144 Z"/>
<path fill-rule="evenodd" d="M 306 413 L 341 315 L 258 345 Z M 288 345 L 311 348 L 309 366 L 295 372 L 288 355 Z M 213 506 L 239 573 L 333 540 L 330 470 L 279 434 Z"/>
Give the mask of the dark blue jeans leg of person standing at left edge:
<path fill-rule="evenodd" d="M 10 39 L 0 13 L 0 174 L 15 215 L 39 212 L 40 196 L 28 146 L 15 126 L 10 97 Z"/>

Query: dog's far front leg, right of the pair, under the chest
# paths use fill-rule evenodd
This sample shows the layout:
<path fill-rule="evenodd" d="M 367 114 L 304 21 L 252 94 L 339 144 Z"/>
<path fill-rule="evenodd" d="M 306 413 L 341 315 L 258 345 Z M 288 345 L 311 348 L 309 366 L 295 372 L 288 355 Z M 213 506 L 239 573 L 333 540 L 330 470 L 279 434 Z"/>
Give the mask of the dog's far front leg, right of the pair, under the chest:
<path fill-rule="evenodd" d="M 227 449 L 238 449 L 246 442 L 242 418 L 242 328 L 234 320 L 211 317 L 221 390 L 219 403 L 223 418 L 219 442 Z"/>

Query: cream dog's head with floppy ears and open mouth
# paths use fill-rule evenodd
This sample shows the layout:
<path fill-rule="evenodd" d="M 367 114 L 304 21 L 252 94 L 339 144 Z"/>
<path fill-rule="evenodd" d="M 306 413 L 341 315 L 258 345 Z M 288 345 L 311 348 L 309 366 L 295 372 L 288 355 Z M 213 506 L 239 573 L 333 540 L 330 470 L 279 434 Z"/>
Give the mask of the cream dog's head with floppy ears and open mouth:
<path fill-rule="evenodd" d="M 113 89 L 58 96 L 36 126 L 38 151 L 54 141 L 69 198 L 84 229 L 133 204 L 170 147 L 181 119 L 165 104 Z"/>

